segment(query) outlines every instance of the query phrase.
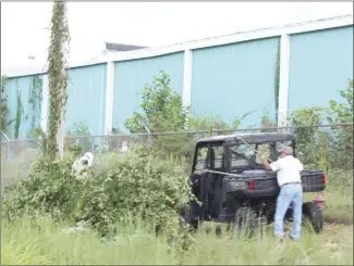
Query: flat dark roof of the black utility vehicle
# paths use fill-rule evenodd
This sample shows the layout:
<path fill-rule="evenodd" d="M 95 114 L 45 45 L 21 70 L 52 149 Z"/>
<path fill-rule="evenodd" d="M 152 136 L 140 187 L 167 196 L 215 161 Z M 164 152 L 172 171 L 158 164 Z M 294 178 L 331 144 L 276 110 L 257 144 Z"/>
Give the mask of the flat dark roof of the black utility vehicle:
<path fill-rule="evenodd" d="M 228 144 L 234 144 L 237 142 L 242 142 L 241 139 L 246 141 L 247 143 L 261 143 L 261 142 L 294 140 L 295 136 L 293 134 L 286 134 L 286 132 L 232 134 L 232 135 L 213 136 L 210 138 L 203 138 L 199 139 L 197 143 L 227 142 Z"/>

